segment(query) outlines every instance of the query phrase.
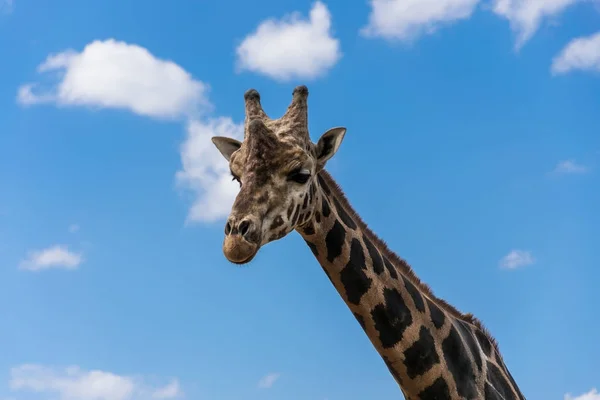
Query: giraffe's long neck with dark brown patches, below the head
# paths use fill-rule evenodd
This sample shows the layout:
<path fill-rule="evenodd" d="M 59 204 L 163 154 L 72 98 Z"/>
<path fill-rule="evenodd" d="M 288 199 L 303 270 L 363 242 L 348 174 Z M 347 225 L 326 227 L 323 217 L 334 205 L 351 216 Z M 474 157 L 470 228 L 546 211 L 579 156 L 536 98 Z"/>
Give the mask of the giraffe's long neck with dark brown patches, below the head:
<path fill-rule="evenodd" d="M 298 228 L 408 399 L 524 399 L 479 322 L 436 298 L 326 171 Z"/>

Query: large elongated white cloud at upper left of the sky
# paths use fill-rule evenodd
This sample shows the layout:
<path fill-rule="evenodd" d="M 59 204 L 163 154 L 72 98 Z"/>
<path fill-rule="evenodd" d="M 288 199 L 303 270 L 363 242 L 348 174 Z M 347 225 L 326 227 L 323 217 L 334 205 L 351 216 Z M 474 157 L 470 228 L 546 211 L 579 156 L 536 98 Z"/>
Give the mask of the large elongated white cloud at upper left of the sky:
<path fill-rule="evenodd" d="M 114 39 L 93 41 L 80 53 L 51 54 L 38 73 L 53 73 L 58 82 L 47 90 L 37 90 L 38 83 L 22 85 L 19 103 L 127 109 L 164 119 L 195 115 L 210 107 L 206 84 L 172 61 Z"/>

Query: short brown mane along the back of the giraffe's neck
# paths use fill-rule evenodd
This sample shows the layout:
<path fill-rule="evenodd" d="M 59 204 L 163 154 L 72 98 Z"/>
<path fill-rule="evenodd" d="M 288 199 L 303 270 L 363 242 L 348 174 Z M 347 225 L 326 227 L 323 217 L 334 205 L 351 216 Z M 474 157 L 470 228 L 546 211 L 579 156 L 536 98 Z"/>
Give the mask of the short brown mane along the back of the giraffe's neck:
<path fill-rule="evenodd" d="M 462 313 L 456 307 L 454 307 L 450 303 L 446 302 L 444 299 L 437 297 L 433 293 L 433 291 L 431 290 L 429 285 L 427 285 L 426 283 L 422 282 L 419 279 L 419 277 L 415 274 L 415 272 L 413 271 L 411 266 L 404 259 L 400 258 L 394 251 L 390 250 L 390 248 L 385 243 L 385 241 L 383 239 L 381 239 L 379 236 L 377 236 L 377 234 L 375 234 L 375 232 L 373 232 L 367 226 L 366 222 L 364 222 L 362 220 L 360 215 L 358 215 L 358 213 L 356 212 L 354 207 L 352 207 L 352 205 L 348 201 L 348 198 L 344 194 L 344 191 L 342 190 L 340 185 L 333 179 L 333 177 L 329 174 L 329 172 L 327 172 L 325 169 L 323 169 L 319 172 L 319 174 L 325 180 L 325 183 L 330 188 L 332 194 L 334 194 L 337 197 L 337 200 L 339 201 L 341 206 L 344 207 L 344 209 L 346 210 L 348 215 L 350 215 L 352 217 L 352 219 L 354 220 L 356 225 L 363 231 L 363 234 L 365 236 L 367 236 L 368 239 L 371 240 L 373 242 L 373 244 L 379 248 L 379 250 L 382 252 L 382 255 L 384 257 L 387 257 L 394 266 L 400 268 L 400 272 L 402 273 L 402 275 L 404 277 L 408 278 L 412 284 L 416 285 L 419 289 L 421 289 L 421 291 L 427 297 L 429 297 L 434 303 L 436 303 L 444 311 L 448 312 L 453 317 L 458 318 L 469 324 L 472 324 L 475 327 L 477 327 L 478 329 L 480 329 L 483 332 L 483 334 L 489 339 L 490 343 L 494 347 L 494 350 L 496 351 L 496 356 L 500 357 L 500 359 L 502 359 L 502 354 L 500 353 L 498 342 L 491 335 L 489 330 L 483 325 L 481 320 L 476 318 L 471 313 Z"/>

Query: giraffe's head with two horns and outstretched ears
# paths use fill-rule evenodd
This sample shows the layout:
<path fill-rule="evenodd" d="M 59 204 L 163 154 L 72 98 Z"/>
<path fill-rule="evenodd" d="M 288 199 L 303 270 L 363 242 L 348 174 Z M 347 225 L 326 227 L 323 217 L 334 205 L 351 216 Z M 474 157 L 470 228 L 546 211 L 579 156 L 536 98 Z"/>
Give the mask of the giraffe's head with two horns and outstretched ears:
<path fill-rule="evenodd" d="M 317 174 L 339 148 L 345 128 L 332 128 L 317 143 L 310 140 L 308 89 L 294 89 L 279 119 L 270 119 L 254 89 L 244 94 L 242 142 L 215 136 L 213 143 L 229 162 L 240 191 L 225 224 L 223 253 L 236 264 L 254 258 L 259 248 L 309 221 L 317 197 Z"/>

